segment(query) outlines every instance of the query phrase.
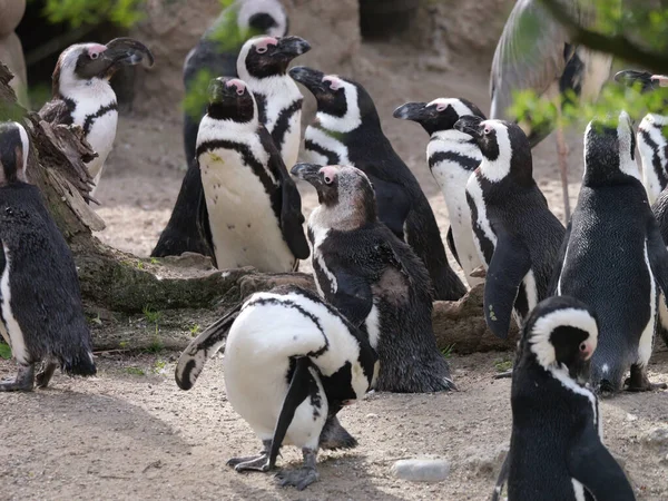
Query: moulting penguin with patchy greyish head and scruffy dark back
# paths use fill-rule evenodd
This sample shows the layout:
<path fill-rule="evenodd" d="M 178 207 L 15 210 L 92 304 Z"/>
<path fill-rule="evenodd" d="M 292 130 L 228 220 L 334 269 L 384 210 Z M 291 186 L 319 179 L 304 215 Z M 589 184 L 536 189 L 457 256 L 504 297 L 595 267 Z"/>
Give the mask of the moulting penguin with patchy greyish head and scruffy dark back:
<path fill-rule="evenodd" d="M 432 330 L 432 287 L 424 264 L 377 218 L 373 187 L 355 167 L 297 164 L 291 173 L 315 187 L 308 219 L 321 296 L 362 328 L 379 353 L 376 390 L 455 390 Z"/>

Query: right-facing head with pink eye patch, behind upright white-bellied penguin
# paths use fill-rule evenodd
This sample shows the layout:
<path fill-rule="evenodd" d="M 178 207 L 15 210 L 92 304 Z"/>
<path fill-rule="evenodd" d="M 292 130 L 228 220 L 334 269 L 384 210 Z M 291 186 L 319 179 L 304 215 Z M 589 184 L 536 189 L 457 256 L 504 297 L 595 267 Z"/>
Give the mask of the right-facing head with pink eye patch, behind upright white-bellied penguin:
<path fill-rule="evenodd" d="M 237 72 L 244 80 L 283 76 L 294 58 L 311 46 L 299 37 L 254 37 L 244 43 L 237 59 Z"/>

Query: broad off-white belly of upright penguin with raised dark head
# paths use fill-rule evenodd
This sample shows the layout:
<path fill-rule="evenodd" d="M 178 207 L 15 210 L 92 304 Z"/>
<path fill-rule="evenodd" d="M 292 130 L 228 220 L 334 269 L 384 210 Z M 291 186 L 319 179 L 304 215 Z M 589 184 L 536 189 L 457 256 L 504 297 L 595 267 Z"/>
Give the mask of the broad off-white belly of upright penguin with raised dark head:
<path fill-rule="evenodd" d="M 258 160 L 264 169 L 267 159 Z M 281 189 L 278 181 L 265 176 L 271 184 L 265 186 L 237 150 L 205 151 L 199 168 L 218 268 L 291 272 L 295 257 L 283 238 L 271 197 Z"/>

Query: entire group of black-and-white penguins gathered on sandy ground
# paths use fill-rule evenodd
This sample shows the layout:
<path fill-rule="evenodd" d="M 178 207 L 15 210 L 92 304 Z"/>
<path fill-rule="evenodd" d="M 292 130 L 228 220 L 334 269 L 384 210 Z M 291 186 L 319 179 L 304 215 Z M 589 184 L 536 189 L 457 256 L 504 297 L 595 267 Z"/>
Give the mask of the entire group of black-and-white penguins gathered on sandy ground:
<path fill-rule="evenodd" d="M 372 389 L 456 389 L 436 347 L 432 301 L 456 301 L 466 287 L 448 264 L 429 202 L 384 136 L 369 92 L 341 76 L 288 69 L 310 45 L 287 36 L 277 0 L 240 0 L 228 9 L 239 29 L 261 35 L 220 53 L 212 33 L 229 19 L 224 11 L 186 59 L 187 89 L 203 68 L 223 76 L 210 81 L 200 120 L 185 117 L 188 170 L 153 254 L 198 252 L 220 269 L 275 273 L 296 271 L 311 257 L 317 294 L 297 286 L 253 294 L 195 338 L 176 367 L 178 386 L 189 390 L 225 346 L 227 399 L 263 444 L 257 455 L 228 464 L 266 472 L 282 445 L 295 445 L 302 468 L 277 477 L 301 490 L 318 479 L 320 449 L 357 444 L 337 420 L 343 406 Z M 98 154 L 88 164 L 96 186 L 116 134 L 109 79 L 141 61 L 153 63 L 153 55 L 128 38 L 71 46 L 58 60 L 53 98 L 40 116 L 84 129 Z M 668 86 L 666 77 L 631 70 L 616 79 L 642 91 Z M 297 82 L 317 102 L 304 138 L 308 163 L 297 163 Z M 430 136 L 429 168 L 450 214 L 446 240 L 469 286 L 484 282 L 490 330 L 507 337 L 511 317 L 521 328 L 510 452 L 493 499 L 505 485 L 510 500 L 635 499 L 602 444 L 597 394 L 660 386 L 649 382 L 647 366 L 655 333 L 668 342 L 665 102 L 637 135 L 646 186 L 629 116 L 589 124 L 582 187 L 566 228 L 532 177 L 531 148 L 518 125 L 487 120 L 465 99 L 394 111 Z M 28 183 L 29 151 L 26 126 L 1 122 L 0 331 L 19 369 L 0 391 L 45 387 L 58 366 L 96 373 L 77 271 L 39 189 Z M 291 174 L 317 191 L 306 235 Z"/>

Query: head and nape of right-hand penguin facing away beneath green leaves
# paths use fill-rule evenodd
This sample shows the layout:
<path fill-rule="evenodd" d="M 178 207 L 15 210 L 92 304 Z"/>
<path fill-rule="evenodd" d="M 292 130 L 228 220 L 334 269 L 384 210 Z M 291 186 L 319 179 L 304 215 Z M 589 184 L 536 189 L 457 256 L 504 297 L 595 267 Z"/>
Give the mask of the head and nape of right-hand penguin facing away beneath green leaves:
<path fill-rule="evenodd" d="M 617 117 L 593 119 L 584 131 L 584 175 L 587 186 L 608 185 L 640 178 L 636 164 L 636 135 L 626 111 Z"/>

